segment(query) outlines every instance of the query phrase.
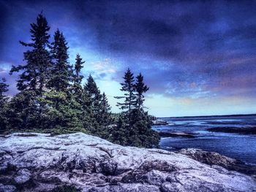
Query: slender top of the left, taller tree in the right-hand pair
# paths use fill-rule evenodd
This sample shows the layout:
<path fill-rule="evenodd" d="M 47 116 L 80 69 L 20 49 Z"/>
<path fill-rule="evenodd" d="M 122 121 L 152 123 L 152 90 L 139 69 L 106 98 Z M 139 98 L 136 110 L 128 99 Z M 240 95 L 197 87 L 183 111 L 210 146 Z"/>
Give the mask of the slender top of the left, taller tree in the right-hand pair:
<path fill-rule="evenodd" d="M 121 91 L 124 91 L 124 96 L 116 96 L 116 99 L 124 99 L 124 103 L 117 103 L 117 106 L 120 107 L 121 110 L 128 110 L 128 114 L 130 114 L 132 107 L 136 105 L 136 96 L 135 96 L 135 85 L 134 77 L 130 69 L 127 69 L 127 72 L 124 74 L 124 82 L 121 83 Z"/>

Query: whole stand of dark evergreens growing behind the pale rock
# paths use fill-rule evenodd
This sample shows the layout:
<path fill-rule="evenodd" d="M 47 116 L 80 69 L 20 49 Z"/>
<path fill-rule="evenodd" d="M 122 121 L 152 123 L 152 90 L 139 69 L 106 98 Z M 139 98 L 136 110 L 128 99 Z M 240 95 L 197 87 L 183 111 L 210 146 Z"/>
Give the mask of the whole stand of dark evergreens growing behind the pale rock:
<path fill-rule="evenodd" d="M 31 42 L 23 54 L 25 64 L 12 66 L 10 74 L 18 72 L 19 93 L 8 98 L 6 80 L 0 81 L 0 131 L 40 131 L 65 134 L 82 131 L 120 145 L 157 147 L 159 135 L 151 129 L 151 116 L 143 109 L 148 87 L 143 75 L 134 77 L 128 69 L 121 83 L 124 96 L 121 113 L 113 115 L 105 93 L 101 93 L 89 75 L 82 85 L 80 71 L 85 63 L 78 54 L 75 64 L 69 64 L 69 47 L 64 35 L 55 31 L 50 42 L 50 26 L 39 14 L 31 23 Z"/>

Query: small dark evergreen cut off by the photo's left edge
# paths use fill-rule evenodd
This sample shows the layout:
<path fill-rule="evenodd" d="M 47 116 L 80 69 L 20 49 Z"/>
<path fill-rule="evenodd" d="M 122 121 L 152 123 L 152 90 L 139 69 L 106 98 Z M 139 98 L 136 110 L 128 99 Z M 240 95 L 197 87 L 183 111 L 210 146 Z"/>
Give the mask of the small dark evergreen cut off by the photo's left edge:
<path fill-rule="evenodd" d="M 5 78 L 0 81 L 0 132 L 4 131 L 7 126 L 7 101 L 8 97 L 4 95 L 8 91 Z"/>

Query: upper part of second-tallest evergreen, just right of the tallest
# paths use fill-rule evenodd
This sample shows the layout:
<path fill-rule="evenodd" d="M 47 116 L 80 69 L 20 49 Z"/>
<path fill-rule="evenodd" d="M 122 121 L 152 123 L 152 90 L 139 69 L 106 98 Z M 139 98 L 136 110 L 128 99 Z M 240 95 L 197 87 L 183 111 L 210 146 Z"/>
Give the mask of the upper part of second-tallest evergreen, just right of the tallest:
<path fill-rule="evenodd" d="M 71 80 L 71 66 L 68 64 L 69 55 L 66 39 L 59 29 L 54 34 L 51 53 L 53 57 L 53 67 L 50 71 L 50 80 L 48 88 L 54 88 L 56 91 L 67 92 L 69 81 Z"/>

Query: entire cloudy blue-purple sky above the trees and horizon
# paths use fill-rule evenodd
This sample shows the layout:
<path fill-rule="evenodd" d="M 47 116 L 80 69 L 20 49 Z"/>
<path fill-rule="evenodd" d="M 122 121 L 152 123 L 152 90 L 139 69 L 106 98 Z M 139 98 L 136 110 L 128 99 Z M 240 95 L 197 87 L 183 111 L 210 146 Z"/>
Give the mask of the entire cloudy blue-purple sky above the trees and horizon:
<path fill-rule="evenodd" d="M 113 112 L 122 77 L 141 72 L 151 115 L 256 112 L 256 1 L 0 0 L 0 77 L 18 93 L 12 65 L 24 64 L 30 23 L 42 11 L 51 39 L 59 28 L 69 63 L 79 53 Z M 85 81 L 84 81 L 85 82 Z"/>

